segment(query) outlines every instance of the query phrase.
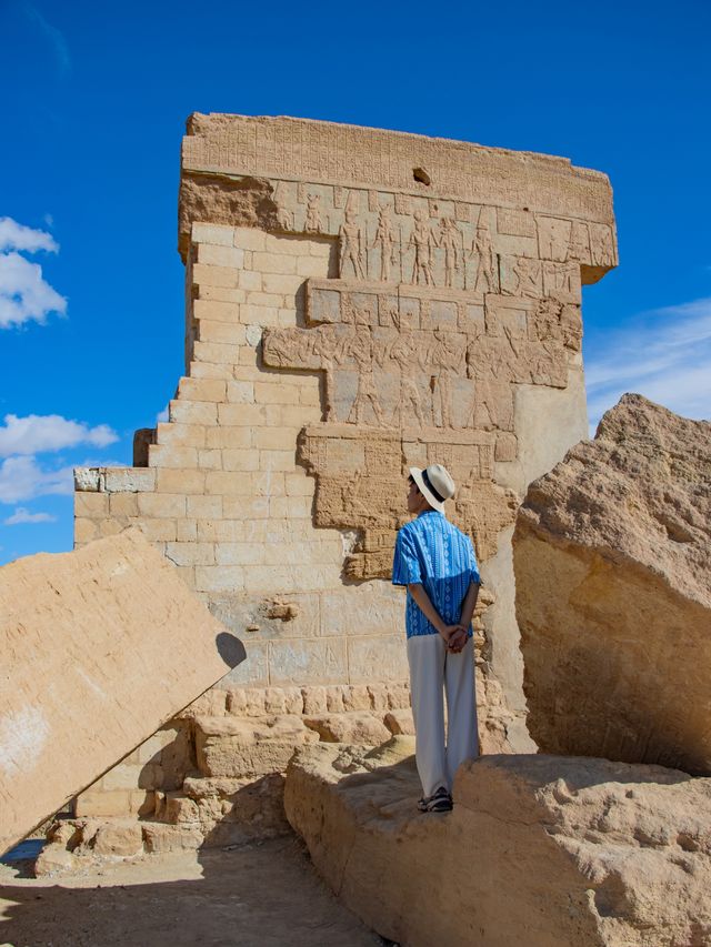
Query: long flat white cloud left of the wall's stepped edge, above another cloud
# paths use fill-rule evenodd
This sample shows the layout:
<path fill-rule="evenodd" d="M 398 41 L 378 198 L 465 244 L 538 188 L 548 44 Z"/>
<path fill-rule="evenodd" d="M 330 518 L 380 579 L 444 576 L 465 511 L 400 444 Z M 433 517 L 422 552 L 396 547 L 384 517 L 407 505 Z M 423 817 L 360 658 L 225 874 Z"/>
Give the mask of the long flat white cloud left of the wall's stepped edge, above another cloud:
<path fill-rule="evenodd" d="M 62 451 L 79 444 L 106 447 L 119 437 L 108 424 L 90 427 L 80 421 L 70 421 L 59 414 L 6 414 L 0 426 L 0 457 L 11 454 L 39 454 L 43 451 Z"/>

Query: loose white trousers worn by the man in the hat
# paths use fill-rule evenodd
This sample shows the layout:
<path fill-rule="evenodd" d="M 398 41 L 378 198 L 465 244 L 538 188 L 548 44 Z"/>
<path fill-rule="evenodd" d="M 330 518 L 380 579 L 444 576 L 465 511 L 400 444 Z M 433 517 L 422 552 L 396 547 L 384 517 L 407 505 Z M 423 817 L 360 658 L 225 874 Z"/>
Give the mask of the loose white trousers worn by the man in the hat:
<path fill-rule="evenodd" d="M 408 663 L 422 793 L 431 796 L 440 786 L 451 792 L 460 765 L 479 756 L 472 639 L 459 654 L 452 654 L 441 635 L 408 638 Z M 447 696 L 447 736 L 442 687 Z"/>

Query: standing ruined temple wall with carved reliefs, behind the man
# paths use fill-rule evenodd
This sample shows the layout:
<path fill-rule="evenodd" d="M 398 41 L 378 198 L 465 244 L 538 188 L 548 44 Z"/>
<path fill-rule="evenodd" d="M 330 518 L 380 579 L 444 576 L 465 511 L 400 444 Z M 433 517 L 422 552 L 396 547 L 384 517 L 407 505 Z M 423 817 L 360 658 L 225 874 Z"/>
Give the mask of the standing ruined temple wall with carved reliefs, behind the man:
<path fill-rule="evenodd" d="M 244 642 L 248 659 L 192 717 L 407 706 L 389 573 L 408 467 L 437 462 L 482 564 L 480 701 L 497 695 L 502 737 L 527 748 L 511 533 L 528 483 L 587 436 L 581 286 L 617 264 L 607 177 L 399 132 L 194 114 L 179 248 L 186 374 L 169 421 L 137 433 L 133 467 L 77 472 L 76 542 L 140 525 Z M 204 724 L 203 748 L 219 736 Z M 179 772 L 144 775 L 159 744 L 83 812 L 149 814 L 153 789 L 178 792 Z"/>

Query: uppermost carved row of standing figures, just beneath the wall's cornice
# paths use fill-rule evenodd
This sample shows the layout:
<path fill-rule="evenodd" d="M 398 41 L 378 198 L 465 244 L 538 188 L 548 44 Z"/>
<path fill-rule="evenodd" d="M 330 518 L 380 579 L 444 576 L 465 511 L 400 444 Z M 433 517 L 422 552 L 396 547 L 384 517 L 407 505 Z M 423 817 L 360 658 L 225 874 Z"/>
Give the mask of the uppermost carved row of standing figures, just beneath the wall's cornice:
<path fill-rule="evenodd" d="M 504 208 L 279 181 L 287 233 L 338 238 L 342 279 L 580 301 L 587 278 L 615 265 L 612 228 Z"/>

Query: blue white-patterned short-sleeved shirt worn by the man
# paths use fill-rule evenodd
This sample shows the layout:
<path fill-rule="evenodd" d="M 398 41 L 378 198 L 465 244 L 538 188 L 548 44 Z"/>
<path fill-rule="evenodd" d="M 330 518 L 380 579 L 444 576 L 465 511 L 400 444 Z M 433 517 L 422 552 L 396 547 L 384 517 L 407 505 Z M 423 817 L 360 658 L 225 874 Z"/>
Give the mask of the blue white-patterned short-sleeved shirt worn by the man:
<path fill-rule="evenodd" d="M 480 583 L 477 556 L 469 536 L 437 510 L 425 510 L 398 533 L 392 584 L 423 585 L 430 602 L 448 625 L 455 625 L 472 582 Z M 438 634 L 410 595 L 405 603 L 408 637 Z M 471 626 L 469 635 L 471 635 Z"/>

